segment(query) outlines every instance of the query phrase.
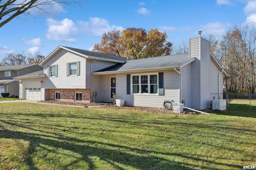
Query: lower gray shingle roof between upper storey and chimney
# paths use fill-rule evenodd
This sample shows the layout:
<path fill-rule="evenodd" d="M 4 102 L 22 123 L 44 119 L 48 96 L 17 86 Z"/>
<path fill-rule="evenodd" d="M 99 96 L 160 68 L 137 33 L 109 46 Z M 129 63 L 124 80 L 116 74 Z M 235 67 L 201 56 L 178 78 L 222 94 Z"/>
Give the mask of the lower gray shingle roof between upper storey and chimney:
<path fill-rule="evenodd" d="M 116 64 L 96 72 L 181 66 L 192 61 L 194 61 L 194 58 L 188 58 L 188 54 L 166 55 L 145 59 L 128 60 L 125 64 Z"/>

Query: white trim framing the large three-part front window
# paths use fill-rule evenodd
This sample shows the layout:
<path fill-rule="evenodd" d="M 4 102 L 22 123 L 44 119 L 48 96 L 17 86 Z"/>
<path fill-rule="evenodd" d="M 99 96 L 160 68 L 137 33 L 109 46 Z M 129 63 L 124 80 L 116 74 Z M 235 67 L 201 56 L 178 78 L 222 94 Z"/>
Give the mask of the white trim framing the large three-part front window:
<path fill-rule="evenodd" d="M 150 93 L 150 75 L 157 75 L 157 93 Z M 133 93 L 132 76 L 139 76 L 139 93 Z M 148 76 L 148 93 L 141 93 L 141 76 Z M 131 74 L 130 83 L 131 94 L 133 95 L 158 95 L 159 94 L 159 82 L 158 82 L 158 72 L 145 73 L 145 74 Z"/>

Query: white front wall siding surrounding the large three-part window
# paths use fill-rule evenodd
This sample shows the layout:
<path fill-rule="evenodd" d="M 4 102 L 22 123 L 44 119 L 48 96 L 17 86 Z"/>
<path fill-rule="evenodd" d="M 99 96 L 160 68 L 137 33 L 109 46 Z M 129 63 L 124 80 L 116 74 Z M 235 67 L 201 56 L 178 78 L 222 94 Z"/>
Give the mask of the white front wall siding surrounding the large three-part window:
<path fill-rule="evenodd" d="M 141 75 L 155 73 L 156 72 L 145 72 L 144 74 L 141 73 Z M 133 72 L 131 75 L 132 74 L 136 73 Z M 103 76 L 102 82 L 107 79 L 109 80 L 108 77 L 109 76 Z M 105 84 L 103 84 L 103 87 L 104 85 Z M 109 88 L 104 87 L 104 89 Z M 175 102 L 178 102 L 179 92 L 179 74 L 174 72 L 174 70 L 168 70 L 164 72 L 164 96 L 158 96 L 155 94 L 126 94 L 126 74 L 116 75 L 116 99 L 124 99 L 124 104 L 128 106 L 163 107 L 164 100 L 174 100 Z"/>

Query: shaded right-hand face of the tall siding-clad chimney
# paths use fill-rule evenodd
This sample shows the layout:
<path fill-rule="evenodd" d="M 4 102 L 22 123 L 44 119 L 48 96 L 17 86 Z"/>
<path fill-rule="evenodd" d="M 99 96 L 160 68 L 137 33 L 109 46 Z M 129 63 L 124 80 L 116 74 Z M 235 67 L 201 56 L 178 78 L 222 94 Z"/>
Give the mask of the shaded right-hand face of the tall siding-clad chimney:
<path fill-rule="evenodd" d="M 201 38 L 201 106 L 200 109 L 210 108 L 210 42 Z"/>

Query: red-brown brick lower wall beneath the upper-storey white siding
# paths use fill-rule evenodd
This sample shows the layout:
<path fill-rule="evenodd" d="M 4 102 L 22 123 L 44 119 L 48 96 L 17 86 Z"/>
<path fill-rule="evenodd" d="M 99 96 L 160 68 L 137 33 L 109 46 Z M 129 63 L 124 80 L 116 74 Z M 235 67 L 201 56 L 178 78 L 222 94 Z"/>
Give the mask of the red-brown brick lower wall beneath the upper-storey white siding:
<path fill-rule="evenodd" d="M 76 92 L 82 92 L 82 102 L 90 103 L 91 102 L 91 89 L 88 88 L 75 88 L 75 89 L 66 89 L 66 88 L 57 88 L 49 89 L 50 100 L 55 100 L 55 92 L 60 92 L 60 101 L 62 102 L 75 102 Z"/>

